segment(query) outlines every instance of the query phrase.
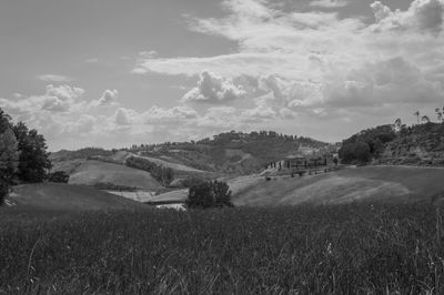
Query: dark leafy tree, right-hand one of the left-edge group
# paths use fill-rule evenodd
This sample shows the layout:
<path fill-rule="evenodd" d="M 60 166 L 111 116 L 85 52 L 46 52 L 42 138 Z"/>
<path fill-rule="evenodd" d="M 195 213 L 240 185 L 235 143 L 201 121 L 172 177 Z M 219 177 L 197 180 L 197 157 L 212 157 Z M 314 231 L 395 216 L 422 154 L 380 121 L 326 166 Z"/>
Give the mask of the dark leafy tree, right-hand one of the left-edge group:
<path fill-rule="evenodd" d="M 37 130 L 28 130 L 22 122 L 13 126 L 13 132 L 19 142 L 20 151 L 17 172 L 19 180 L 42 182 L 52 166 L 44 138 Z"/>

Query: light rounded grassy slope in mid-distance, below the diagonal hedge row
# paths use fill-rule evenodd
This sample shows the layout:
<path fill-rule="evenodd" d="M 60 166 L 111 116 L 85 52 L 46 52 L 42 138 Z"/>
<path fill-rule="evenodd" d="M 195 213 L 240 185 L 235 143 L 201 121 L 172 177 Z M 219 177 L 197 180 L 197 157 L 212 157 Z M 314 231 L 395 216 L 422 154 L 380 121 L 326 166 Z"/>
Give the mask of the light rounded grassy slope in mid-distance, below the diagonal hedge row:
<path fill-rule="evenodd" d="M 70 184 L 94 185 L 113 183 L 117 185 L 137 186 L 145 190 L 159 190 L 161 184 L 150 173 L 120 164 L 88 160 L 70 175 Z"/>

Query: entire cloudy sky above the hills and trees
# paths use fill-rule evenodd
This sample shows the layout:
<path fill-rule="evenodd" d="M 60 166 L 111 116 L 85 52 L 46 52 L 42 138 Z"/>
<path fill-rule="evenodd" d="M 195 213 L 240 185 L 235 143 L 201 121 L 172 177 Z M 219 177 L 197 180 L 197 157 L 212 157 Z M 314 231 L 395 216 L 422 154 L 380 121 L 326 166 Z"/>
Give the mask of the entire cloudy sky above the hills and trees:
<path fill-rule="evenodd" d="M 444 0 L 3 0 L 0 108 L 50 151 L 435 119 Z"/>

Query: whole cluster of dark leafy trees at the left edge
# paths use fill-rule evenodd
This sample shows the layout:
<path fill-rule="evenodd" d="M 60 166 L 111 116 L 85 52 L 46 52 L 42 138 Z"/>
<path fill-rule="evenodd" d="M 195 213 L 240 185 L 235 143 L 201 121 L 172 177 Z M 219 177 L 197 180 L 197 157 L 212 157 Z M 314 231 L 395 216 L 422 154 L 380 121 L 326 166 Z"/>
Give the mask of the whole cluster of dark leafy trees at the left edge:
<path fill-rule="evenodd" d="M 51 161 L 44 138 L 0 109 L 0 204 L 17 181 L 42 182 Z"/>

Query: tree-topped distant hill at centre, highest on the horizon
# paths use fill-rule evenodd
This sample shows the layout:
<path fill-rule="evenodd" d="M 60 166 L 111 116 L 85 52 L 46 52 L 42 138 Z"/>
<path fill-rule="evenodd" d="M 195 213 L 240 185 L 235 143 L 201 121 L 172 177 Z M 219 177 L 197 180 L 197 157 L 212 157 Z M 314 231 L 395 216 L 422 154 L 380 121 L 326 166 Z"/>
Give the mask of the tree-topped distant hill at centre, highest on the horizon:
<path fill-rule="evenodd" d="M 279 134 L 273 131 L 231 131 L 196 142 L 133 145 L 129 151 L 196 170 L 239 175 L 259 172 L 271 162 L 294 154 L 302 146 L 313 151 L 336 149 L 335 145 L 310 138 Z"/>

